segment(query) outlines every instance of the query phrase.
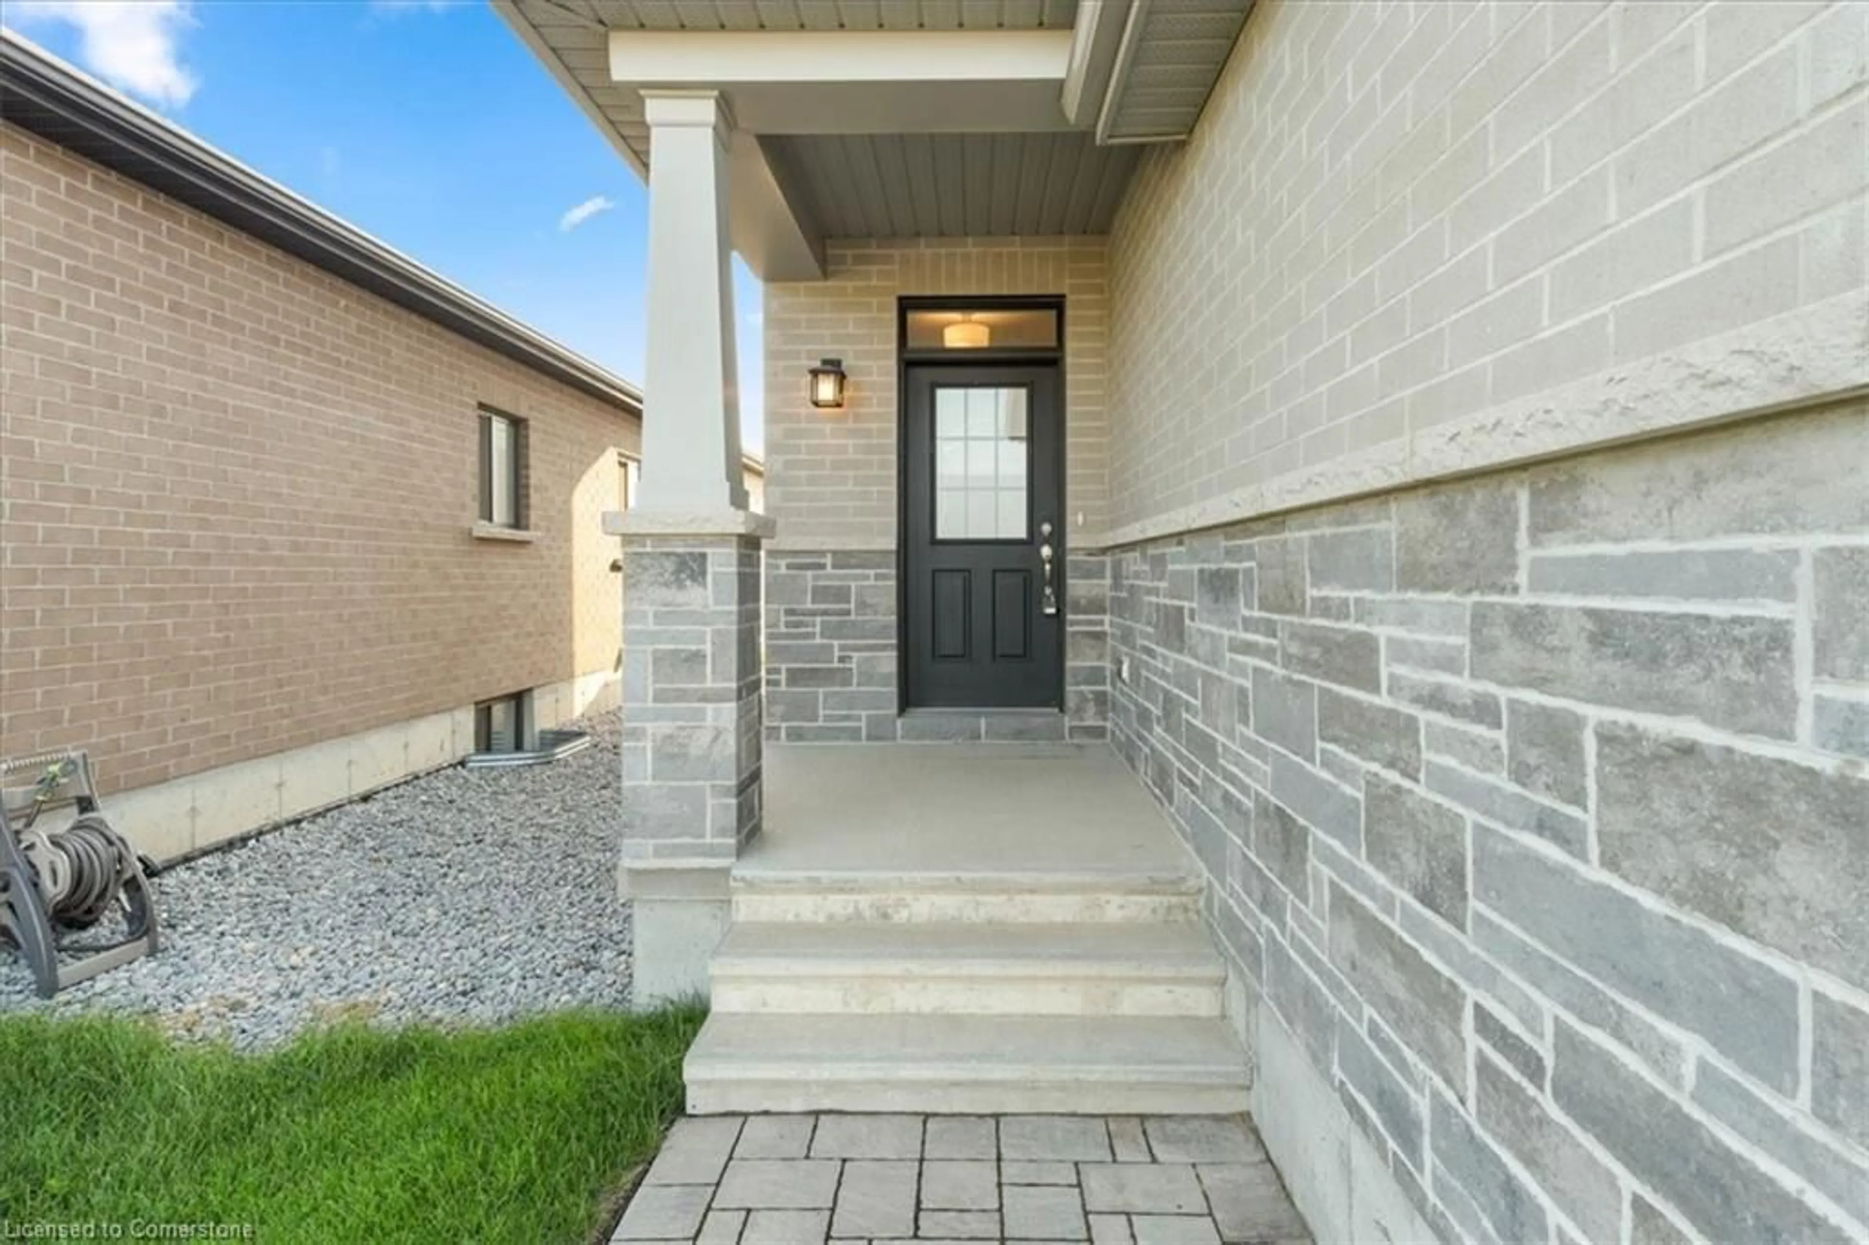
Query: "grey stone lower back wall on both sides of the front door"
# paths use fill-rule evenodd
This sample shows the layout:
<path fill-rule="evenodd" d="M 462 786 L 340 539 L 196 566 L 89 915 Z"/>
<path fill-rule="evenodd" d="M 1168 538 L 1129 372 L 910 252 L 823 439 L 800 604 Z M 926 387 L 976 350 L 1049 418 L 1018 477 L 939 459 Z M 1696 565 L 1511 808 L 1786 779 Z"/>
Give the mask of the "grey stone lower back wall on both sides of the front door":
<path fill-rule="evenodd" d="M 899 714 L 895 553 L 766 555 L 766 737 L 789 744 L 1108 737 L 1110 563 L 1065 565 L 1063 714 Z"/>

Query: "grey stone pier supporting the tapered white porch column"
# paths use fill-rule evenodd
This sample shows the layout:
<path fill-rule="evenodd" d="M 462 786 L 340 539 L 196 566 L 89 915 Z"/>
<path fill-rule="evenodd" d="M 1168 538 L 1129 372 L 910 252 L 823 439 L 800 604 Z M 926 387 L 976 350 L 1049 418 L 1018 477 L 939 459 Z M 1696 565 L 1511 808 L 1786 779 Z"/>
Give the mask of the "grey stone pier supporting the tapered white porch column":
<path fill-rule="evenodd" d="M 622 864 L 759 834 L 759 540 L 622 538 Z"/>

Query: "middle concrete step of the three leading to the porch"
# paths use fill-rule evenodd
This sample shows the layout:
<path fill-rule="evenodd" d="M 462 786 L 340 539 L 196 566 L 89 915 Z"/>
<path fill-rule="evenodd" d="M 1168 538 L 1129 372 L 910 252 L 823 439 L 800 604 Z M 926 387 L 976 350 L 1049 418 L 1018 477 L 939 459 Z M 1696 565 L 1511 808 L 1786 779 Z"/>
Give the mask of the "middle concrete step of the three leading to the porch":
<path fill-rule="evenodd" d="M 1220 1015 L 1226 966 L 1192 923 L 738 923 L 716 1011 Z"/>

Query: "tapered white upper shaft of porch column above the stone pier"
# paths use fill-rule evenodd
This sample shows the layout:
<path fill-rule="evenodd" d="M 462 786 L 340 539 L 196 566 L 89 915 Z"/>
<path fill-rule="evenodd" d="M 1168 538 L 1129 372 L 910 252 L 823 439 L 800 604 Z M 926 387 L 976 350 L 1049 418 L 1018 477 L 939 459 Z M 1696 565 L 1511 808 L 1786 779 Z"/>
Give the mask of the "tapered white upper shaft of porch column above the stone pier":
<path fill-rule="evenodd" d="M 643 92 L 649 120 L 647 510 L 744 510 L 727 150 L 718 92 Z"/>

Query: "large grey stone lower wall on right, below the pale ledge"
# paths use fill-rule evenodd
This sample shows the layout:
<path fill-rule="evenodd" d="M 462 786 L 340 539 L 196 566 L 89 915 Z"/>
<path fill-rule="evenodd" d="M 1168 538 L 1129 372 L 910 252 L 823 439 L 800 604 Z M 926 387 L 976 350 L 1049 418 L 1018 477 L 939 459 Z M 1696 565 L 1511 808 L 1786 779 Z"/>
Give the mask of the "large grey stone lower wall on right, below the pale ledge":
<path fill-rule="evenodd" d="M 1869 409 L 1123 550 L 1112 733 L 1443 1239 L 1869 1238 Z"/>

